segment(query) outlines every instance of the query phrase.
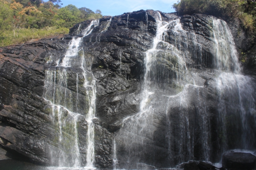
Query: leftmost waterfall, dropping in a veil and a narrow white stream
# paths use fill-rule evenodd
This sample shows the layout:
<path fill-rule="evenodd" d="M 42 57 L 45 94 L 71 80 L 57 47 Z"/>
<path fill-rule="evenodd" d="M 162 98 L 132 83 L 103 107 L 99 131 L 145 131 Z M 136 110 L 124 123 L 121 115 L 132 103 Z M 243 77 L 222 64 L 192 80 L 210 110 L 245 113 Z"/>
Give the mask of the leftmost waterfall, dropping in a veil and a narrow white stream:
<path fill-rule="evenodd" d="M 85 37 L 98 25 L 99 20 L 92 20 L 80 33 Z M 91 68 L 86 67 L 84 50 L 80 47 L 83 37 L 73 37 L 64 58 L 58 61 L 57 66 L 49 67 L 45 72 L 44 99 L 52 105 L 52 125 L 56 130 L 56 139 L 51 139 L 54 148 L 50 149 L 53 166 L 82 166 L 77 123 L 78 120 L 85 120 L 88 126 L 86 166 L 94 167 L 92 119 L 95 117 L 96 90 Z M 72 76 L 75 82 L 74 91 L 71 90 L 72 85 L 68 84 L 68 79 L 72 79 Z M 84 81 L 82 85 L 80 81 Z M 81 86 L 85 91 L 84 96 L 78 94 Z M 87 98 L 88 101 L 83 98 Z M 87 114 L 84 115 L 85 113 Z"/>

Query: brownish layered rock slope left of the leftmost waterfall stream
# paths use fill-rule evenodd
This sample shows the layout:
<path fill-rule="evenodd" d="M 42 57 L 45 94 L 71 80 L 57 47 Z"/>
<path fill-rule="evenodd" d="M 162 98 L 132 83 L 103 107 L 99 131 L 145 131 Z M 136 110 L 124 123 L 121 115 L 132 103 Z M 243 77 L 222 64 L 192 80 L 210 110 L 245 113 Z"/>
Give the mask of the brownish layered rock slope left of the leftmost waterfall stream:
<path fill-rule="evenodd" d="M 49 109 L 42 98 L 47 50 L 63 54 L 63 36 L 1 49 L 1 146 L 36 163 L 50 163 L 47 138 Z M 58 43 L 54 42 L 58 41 Z"/>

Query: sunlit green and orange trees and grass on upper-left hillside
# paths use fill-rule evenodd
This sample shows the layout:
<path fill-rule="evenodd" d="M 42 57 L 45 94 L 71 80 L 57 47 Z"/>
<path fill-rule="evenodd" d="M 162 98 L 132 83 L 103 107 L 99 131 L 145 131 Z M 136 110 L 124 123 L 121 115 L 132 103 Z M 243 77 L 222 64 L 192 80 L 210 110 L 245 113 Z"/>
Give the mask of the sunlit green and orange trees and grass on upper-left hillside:
<path fill-rule="evenodd" d="M 0 46 L 65 34 L 78 22 L 102 17 L 100 10 L 61 5 L 60 0 L 0 0 Z"/>

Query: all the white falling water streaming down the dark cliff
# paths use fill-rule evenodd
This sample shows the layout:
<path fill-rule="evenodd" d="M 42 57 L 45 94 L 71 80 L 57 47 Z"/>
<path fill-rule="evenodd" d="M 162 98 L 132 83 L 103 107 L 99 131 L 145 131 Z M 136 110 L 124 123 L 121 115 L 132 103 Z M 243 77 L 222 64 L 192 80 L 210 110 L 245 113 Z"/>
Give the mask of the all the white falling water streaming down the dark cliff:
<path fill-rule="evenodd" d="M 148 26 L 148 15 L 146 16 Z M 122 167 L 126 169 L 133 168 L 134 163 L 141 163 L 144 160 L 154 164 L 154 160 L 151 160 L 154 157 L 148 160 L 147 154 L 155 152 L 154 136 L 157 136 L 155 133 L 161 119 L 166 119 L 166 127 L 169 128 L 165 129 L 168 143 L 168 153 L 166 153 L 168 160 L 166 161 L 178 164 L 194 159 L 197 149 L 195 147 L 199 140 L 201 157 L 208 161 L 211 155 L 210 113 L 205 101 L 207 94 L 203 91 L 205 86 L 197 81 L 198 75 L 189 70 L 185 63 L 186 58 L 190 57 L 195 60 L 195 63 L 202 64 L 202 58 L 206 54 L 197 40 L 197 35 L 191 31 L 185 31 L 180 19 L 165 22 L 159 12 L 156 13 L 155 18 L 156 36 L 151 49 L 145 52 L 145 74 L 141 84 L 139 111 L 135 115 L 126 117 L 123 120 L 123 127 L 116 133 L 113 140 L 113 169 L 118 168 L 118 159 L 127 162 L 127 166 Z M 129 14 L 126 28 L 128 28 L 128 20 Z M 106 22 L 106 27 L 102 28 L 101 32 L 108 29 L 110 22 L 111 19 Z M 90 34 L 93 27 L 98 24 L 98 20 L 93 20 L 81 33 L 84 36 Z M 167 35 L 172 37 L 172 42 L 166 42 Z M 225 21 L 212 18 L 211 39 L 215 51 L 214 67 L 217 72 L 214 81 L 219 100 L 220 135 L 227 136 L 230 131 L 227 125 L 228 117 L 238 116 L 241 118 L 242 125 L 239 132 L 242 135 L 240 147 L 250 149 L 253 139 L 249 137 L 248 115 L 255 113 L 251 78 L 241 74 L 235 43 Z M 95 155 L 92 120 L 95 118 L 96 89 L 92 71 L 86 68 L 84 50 L 80 47 L 82 40 L 83 37 L 74 37 L 69 43 L 63 60 L 58 61 L 56 67 L 46 71 L 44 98 L 52 105 L 52 123 L 58 132 L 54 139 L 55 148 L 50 153 L 52 165 L 81 168 L 77 121 L 80 117 L 85 117 L 88 128 L 85 168 L 93 169 Z M 78 95 L 81 86 L 79 73 L 75 75 L 76 92 L 68 89 L 68 72 L 70 68 L 76 67 L 77 59 L 79 59 L 79 69 L 84 78 L 83 88 L 89 99 L 87 108 L 79 107 L 81 106 Z M 162 79 L 164 82 L 161 82 Z M 168 86 L 174 90 L 172 92 L 165 90 Z M 196 117 L 198 120 L 195 122 L 201 134 L 197 139 L 194 137 L 194 129 L 191 129 L 189 121 L 192 108 L 190 97 L 193 97 L 192 100 L 196 103 L 198 114 Z M 83 115 L 84 112 L 87 114 Z M 174 121 L 179 121 L 176 129 L 171 128 Z M 175 136 L 175 134 L 178 135 Z M 228 150 L 228 139 L 222 138 L 222 140 L 222 152 L 225 152 Z M 125 152 L 123 158 L 117 158 L 119 147 Z M 170 165 L 173 164 L 170 163 Z"/>

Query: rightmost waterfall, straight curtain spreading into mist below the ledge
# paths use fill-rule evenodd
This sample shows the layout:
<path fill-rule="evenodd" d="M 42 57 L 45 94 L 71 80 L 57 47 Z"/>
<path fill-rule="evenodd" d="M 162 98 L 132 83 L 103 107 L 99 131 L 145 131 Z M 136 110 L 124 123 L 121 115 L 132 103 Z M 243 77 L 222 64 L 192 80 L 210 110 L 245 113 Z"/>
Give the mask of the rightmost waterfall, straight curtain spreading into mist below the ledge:
<path fill-rule="evenodd" d="M 222 126 L 221 135 L 228 137 L 229 134 L 241 134 L 241 139 L 223 139 L 222 151 L 236 149 L 230 147 L 230 143 L 236 142 L 240 148 L 252 149 L 254 136 L 250 135 L 251 121 L 255 111 L 255 89 L 252 79 L 241 74 L 237 51 L 232 34 L 225 21 L 212 17 L 213 41 L 215 49 L 215 67 L 220 71 L 216 78 L 216 88 L 219 96 L 219 117 Z M 228 100 L 227 100 L 228 99 Z M 232 121 L 231 117 L 242 121 L 236 125 L 227 124 Z M 235 140 L 235 141 L 234 141 Z"/>

